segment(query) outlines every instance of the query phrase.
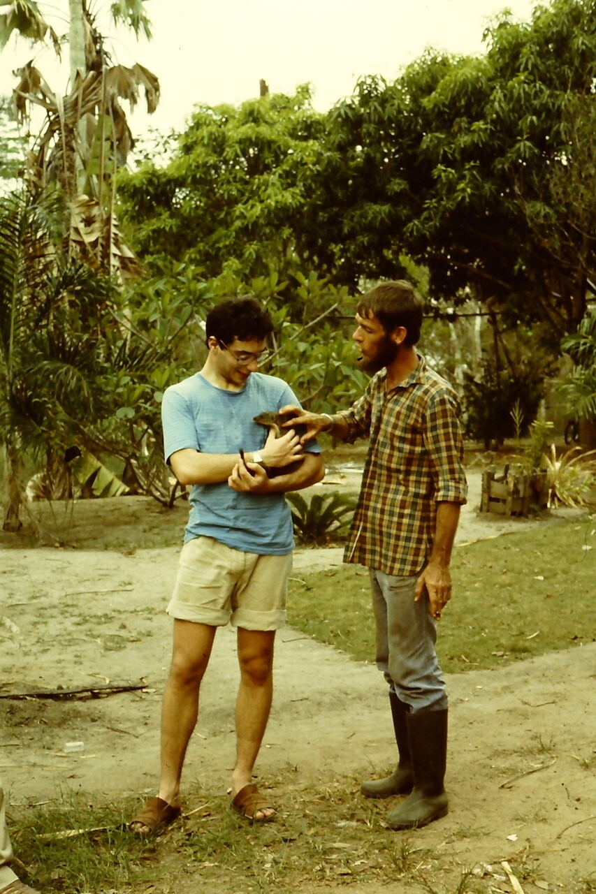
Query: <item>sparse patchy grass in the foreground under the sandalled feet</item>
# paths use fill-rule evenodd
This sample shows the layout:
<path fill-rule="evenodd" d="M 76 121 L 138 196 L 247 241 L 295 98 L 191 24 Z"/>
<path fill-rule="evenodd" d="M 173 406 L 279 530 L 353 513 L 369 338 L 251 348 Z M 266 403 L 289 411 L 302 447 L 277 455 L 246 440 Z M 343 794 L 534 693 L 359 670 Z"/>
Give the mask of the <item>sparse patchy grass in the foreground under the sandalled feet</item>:
<path fill-rule="evenodd" d="M 388 831 L 387 805 L 357 797 L 355 787 L 352 778 L 338 777 L 321 787 L 286 777 L 272 792 L 280 805 L 277 821 L 264 825 L 250 825 L 232 813 L 228 797 L 198 800 L 195 795 L 187 802 L 189 815 L 149 841 L 123 828 L 136 799 L 135 804 L 132 799 L 89 803 L 89 795 L 70 795 L 37 809 L 13 809 L 9 823 L 15 851 L 27 859 L 30 883 L 56 894 L 149 889 L 194 894 L 198 880 L 201 891 L 218 894 L 290 894 L 354 881 L 400 882 L 393 890 L 422 894 L 429 890 L 418 876 L 422 864 L 425 879 L 440 894 L 469 891 L 462 887 L 461 868 L 444 850 L 429 847 L 428 839 L 422 842 L 420 832 Z M 109 828 L 55 837 L 102 826 Z M 54 837 L 42 838 L 48 834 Z"/>

